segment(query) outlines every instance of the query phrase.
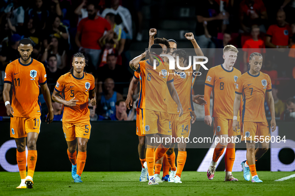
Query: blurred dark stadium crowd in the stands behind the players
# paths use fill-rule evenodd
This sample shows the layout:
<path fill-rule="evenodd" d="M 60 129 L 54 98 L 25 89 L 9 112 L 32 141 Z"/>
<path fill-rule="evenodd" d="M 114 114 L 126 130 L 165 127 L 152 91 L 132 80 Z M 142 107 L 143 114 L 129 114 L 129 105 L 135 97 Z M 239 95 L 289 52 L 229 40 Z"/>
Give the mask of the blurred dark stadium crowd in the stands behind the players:
<path fill-rule="evenodd" d="M 70 70 L 73 54 L 84 53 L 86 71 L 96 82 L 97 106 L 89 106 L 91 120 L 134 120 L 138 93 L 133 108 L 128 111 L 125 106 L 133 77 L 129 61 L 147 48 L 149 28 L 157 28 L 158 37 L 175 39 L 182 48 L 184 32 L 190 30 L 202 49 L 227 44 L 242 48 L 235 65 L 242 73 L 248 71 L 249 55 L 262 53 L 262 72 L 272 79 L 276 117 L 295 120 L 295 92 L 290 91 L 295 85 L 294 12 L 295 0 L 0 0 L 0 101 L 5 67 L 19 58 L 18 42 L 25 37 L 33 42 L 31 57 L 45 66 L 51 92 Z M 204 54 L 210 57 L 210 50 Z M 198 80 L 194 90 L 203 95 L 205 80 Z M 44 118 L 42 95 L 40 102 Z M 52 104 L 54 120 L 60 120 L 62 104 Z M 195 108 L 203 118 L 204 108 Z M 267 104 L 265 108 L 270 117 Z M 2 102 L 0 116 L 6 116 Z"/>

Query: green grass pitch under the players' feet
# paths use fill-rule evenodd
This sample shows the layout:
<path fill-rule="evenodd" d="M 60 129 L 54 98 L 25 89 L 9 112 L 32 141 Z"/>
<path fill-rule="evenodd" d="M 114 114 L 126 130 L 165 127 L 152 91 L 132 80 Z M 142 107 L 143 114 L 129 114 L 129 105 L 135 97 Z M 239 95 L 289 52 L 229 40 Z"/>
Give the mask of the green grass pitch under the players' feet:
<path fill-rule="evenodd" d="M 258 172 L 263 183 L 247 182 L 243 172 L 233 172 L 239 182 L 224 182 L 225 172 L 212 181 L 204 172 L 183 172 L 182 184 L 164 182 L 148 186 L 139 182 L 140 172 L 83 172 L 83 183 L 74 183 L 70 172 L 35 172 L 33 189 L 16 187 L 18 173 L 0 172 L 1 196 L 289 196 L 294 195 L 295 178 L 274 182 L 294 172 Z M 161 172 L 162 175 L 162 172 Z"/>

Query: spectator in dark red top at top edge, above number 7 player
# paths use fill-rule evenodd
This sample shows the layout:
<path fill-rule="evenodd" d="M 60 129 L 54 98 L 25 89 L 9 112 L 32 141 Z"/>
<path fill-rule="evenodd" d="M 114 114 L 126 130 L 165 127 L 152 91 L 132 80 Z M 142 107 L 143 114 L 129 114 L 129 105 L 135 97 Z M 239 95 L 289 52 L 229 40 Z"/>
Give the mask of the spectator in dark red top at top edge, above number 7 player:
<path fill-rule="evenodd" d="M 266 32 L 263 20 L 268 19 L 267 9 L 262 0 L 243 0 L 240 3 L 240 23 L 242 33 L 250 33 L 253 25 Z"/>

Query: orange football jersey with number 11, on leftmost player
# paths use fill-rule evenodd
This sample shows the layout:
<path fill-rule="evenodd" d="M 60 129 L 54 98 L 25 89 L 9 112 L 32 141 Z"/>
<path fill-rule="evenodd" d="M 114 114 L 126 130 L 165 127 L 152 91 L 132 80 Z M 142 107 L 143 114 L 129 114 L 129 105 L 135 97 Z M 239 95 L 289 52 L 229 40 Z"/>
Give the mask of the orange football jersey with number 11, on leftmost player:
<path fill-rule="evenodd" d="M 31 59 L 26 65 L 19 59 L 12 61 L 5 69 L 4 83 L 12 85 L 11 106 L 14 116 L 41 115 L 39 85 L 46 83 L 46 72 L 42 63 L 35 59 Z"/>

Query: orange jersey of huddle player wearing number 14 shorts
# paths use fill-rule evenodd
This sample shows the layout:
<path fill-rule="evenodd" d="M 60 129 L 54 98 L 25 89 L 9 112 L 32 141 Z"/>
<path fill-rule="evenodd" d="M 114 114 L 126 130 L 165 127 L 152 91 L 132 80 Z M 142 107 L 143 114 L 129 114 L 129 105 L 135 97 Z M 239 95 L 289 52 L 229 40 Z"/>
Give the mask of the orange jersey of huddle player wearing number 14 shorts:
<path fill-rule="evenodd" d="M 194 111 L 192 88 L 195 83 L 196 76 L 194 76 L 193 73 L 194 70 L 191 67 L 190 69 L 184 70 L 183 72 L 175 72 L 175 75 L 173 76 L 174 87 L 181 102 L 183 113 Z M 178 114 L 179 112 L 177 112 L 177 104 L 171 97 L 168 90 L 167 99 L 168 113 Z"/>

